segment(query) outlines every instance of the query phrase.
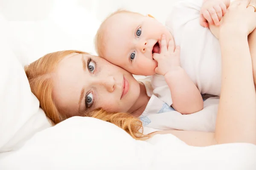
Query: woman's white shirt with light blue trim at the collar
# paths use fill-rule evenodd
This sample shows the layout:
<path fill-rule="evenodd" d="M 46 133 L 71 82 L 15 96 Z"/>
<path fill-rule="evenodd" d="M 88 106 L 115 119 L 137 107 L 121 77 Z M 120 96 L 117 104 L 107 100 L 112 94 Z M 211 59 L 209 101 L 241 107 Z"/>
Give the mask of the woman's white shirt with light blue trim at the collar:
<path fill-rule="evenodd" d="M 144 127 L 144 134 L 158 130 L 196 130 L 205 132 L 215 131 L 218 111 L 218 97 L 204 101 L 204 109 L 193 114 L 181 114 L 153 94 L 151 77 L 138 79 L 145 85 L 150 100 L 145 111 L 139 117 Z"/>

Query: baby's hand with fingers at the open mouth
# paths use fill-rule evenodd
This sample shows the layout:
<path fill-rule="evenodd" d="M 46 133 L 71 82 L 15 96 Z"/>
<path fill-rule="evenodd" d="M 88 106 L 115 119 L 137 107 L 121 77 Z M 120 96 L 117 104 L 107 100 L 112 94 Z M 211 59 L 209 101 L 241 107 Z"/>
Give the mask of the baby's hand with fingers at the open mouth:
<path fill-rule="evenodd" d="M 175 48 L 174 40 L 169 40 L 168 49 L 166 45 L 166 37 L 161 39 L 161 53 L 153 54 L 153 58 L 157 60 L 158 65 L 155 68 L 157 74 L 165 75 L 169 71 L 175 71 L 180 68 L 180 47 Z"/>

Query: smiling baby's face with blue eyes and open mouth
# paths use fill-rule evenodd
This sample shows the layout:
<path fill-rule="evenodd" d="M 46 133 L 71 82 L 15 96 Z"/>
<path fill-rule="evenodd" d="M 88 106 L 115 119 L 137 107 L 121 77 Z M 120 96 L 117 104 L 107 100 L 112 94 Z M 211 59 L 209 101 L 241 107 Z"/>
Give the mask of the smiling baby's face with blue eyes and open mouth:
<path fill-rule="evenodd" d="M 153 75 L 157 67 L 153 53 L 161 51 L 162 34 L 168 44 L 172 34 L 156 19 L 128 12 L 115 14 L 104 28 L 102 57 L 132 74 Z"/>

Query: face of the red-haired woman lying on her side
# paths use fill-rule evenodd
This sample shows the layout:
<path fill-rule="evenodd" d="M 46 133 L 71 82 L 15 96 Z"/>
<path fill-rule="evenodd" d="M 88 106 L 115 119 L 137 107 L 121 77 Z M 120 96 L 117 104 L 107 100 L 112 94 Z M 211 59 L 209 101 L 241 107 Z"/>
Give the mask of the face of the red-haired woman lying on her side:
<path fill-rule="evenodd" d="M 140 85 L 129 72 L 97 56 L 70 54 L 53 73 L 55 104 L 66 116 L 86 109 L 127 112 L 140 95 Z"/>

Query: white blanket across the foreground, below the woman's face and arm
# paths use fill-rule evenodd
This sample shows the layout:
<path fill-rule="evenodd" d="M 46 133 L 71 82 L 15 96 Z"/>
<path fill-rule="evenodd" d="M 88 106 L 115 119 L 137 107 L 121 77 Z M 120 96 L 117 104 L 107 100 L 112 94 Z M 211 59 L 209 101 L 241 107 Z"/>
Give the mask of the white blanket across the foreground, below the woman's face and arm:
<path fill-rule="evenodd" d="M 138 141 L 111 123 L 72 117 L 0 155 L 0 169 L 255 170 L 255 160 L 253 144 L 191 147 L 171 134 Z"/>

